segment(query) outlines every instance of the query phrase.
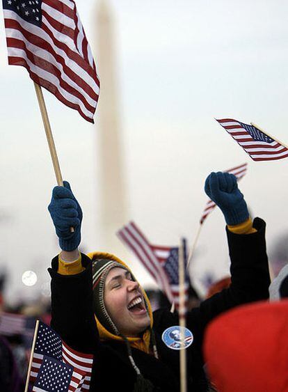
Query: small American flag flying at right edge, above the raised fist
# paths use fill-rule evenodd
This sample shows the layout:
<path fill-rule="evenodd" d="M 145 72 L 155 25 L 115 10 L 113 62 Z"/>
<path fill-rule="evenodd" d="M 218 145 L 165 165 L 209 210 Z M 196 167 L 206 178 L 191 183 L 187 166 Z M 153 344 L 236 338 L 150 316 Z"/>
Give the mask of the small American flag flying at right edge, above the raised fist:
<path fill-rule="evenodd" d="M 254 161 L 273 161 L 288 157 L 288 149 L 254 125 L 232 118 L 216 120 Z"/>

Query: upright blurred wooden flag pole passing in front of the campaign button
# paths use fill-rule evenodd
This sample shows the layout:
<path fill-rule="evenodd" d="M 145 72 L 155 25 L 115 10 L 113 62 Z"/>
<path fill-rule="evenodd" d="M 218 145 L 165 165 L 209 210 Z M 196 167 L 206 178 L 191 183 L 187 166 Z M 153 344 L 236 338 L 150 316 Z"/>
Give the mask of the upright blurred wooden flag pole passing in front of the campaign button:
<path fill-rule="evenodd" d="M 182 329 L 180 349 L 180 392 L 187 391 L 186 379 L 186 349 L 184 328 L 186 327 L 186 304 L 185 304 L 185 266 L 184 266 L 184 246 L 181 241 L 179 244 L 178 257 L 178 272 L 179 272 L 179 326 Z"/>

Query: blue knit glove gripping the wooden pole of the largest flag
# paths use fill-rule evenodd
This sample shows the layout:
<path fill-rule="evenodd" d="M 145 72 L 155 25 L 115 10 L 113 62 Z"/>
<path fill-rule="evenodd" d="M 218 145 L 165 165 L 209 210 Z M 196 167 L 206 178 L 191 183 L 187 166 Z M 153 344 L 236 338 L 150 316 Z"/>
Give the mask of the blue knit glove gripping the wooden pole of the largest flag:
<path fill-rule="evenodd" d="M 63 187 L 54 187 L 51 203 L 48 206 L 59 245 L 63 251 L 73 251 L 81 241 L 81 207 L 72 194 L 69 182 L 63 181 Z M 70 228 L 74 228 L 71 233 Z"/>

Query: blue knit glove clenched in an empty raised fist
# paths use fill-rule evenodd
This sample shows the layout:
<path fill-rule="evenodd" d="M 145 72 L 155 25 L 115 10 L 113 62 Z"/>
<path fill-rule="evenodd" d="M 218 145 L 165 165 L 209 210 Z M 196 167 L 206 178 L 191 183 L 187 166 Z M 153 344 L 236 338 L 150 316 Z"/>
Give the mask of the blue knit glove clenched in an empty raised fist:
<path fill-rule="evenodd" d="M 221 209 L 227 225 L 238 225 L 249 217 L 246 201 L 238 189 L 234 174 L 211 173 L 205 181 L 205 192 Z"/>

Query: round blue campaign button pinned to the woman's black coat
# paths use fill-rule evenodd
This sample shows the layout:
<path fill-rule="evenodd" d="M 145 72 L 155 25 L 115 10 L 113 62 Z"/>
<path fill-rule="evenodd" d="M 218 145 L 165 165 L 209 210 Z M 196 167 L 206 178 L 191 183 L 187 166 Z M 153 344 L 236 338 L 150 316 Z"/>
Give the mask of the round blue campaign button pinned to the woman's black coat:
<path fill-rule="evenodd" d="M 162 340 L 172 350 L 181 350 L 192 344 L 193 334 L 190 329 L 175 325 L 163 331 Z"/>

